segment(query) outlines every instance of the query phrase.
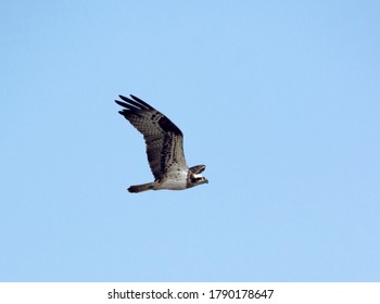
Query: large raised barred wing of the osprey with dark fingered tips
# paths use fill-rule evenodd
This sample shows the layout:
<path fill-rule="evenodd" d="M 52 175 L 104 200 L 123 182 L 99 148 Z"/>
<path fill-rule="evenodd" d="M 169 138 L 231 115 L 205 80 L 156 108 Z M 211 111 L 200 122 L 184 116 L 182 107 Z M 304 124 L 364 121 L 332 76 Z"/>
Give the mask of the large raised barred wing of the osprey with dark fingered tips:
<path fill-rule="evenodd" d="M 132 94 L 131 99 L 118 97 L 125 101 L 115 100 L 117 104 L 125 107 L 118 113 L 143 135 L 148 161 L 154 178 L 162 177 L 170 166 L 187 169 L 181 130 L 164 114 L 141 99 Z"/>

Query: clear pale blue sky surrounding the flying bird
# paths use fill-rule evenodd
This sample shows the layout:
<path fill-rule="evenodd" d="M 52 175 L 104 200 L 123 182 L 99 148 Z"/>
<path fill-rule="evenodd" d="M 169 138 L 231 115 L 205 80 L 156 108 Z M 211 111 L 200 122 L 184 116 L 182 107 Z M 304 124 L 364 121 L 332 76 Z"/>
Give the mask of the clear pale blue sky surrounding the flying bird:
<path fill-rule="evenodd" d="M 379 281 L 379 1 L 2 1 L 1 281 Z M 210 183 L 153 179 L 114 99 Z"/>

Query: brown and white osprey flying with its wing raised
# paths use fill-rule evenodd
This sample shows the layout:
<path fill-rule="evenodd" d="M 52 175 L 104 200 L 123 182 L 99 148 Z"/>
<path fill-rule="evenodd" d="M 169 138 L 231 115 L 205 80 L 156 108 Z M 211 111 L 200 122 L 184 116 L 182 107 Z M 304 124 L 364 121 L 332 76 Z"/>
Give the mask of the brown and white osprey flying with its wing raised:
<path fill-rule="evenodd" d="M 124 107 L 118 113 L 143 135 L 149 165 L 154 176 L 153 182 L 130 186 L 129 192 L 183 190 L 208 182 L 200 175 L 206 168 L 205 165 L 189 168 L 186 164 L 183 135 L 169 118 L 132 94 L 131 99 L 118 97 L 125 101 L 115 100 Z"/>

